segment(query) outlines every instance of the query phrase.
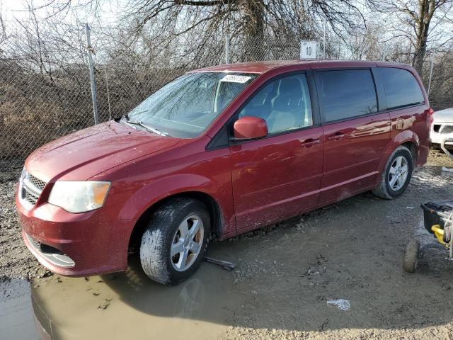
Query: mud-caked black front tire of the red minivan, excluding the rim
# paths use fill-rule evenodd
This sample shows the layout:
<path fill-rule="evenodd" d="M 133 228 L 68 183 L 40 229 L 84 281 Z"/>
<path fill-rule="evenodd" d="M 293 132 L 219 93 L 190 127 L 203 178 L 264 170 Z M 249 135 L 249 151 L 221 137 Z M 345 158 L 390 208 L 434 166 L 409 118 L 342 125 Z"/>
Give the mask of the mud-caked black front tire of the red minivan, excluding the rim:
<path fill-rule="evenodd" d="M 173 267 L 175 257 L 171 256 L 171 246 L 181 222 L 190 216 L 200 217 L 202 221 L 204 232 L 201 249 L 189 268 L 178 271 Z M 210 225 L 210 214 L 200 201 L 191 198 L 169 200 L 154 212 L 142 235 L 140 262 L 144 273 L 152 280 L 164 285 L 176 285 L 189 278 L 197 271 L 205 256 Z"/>

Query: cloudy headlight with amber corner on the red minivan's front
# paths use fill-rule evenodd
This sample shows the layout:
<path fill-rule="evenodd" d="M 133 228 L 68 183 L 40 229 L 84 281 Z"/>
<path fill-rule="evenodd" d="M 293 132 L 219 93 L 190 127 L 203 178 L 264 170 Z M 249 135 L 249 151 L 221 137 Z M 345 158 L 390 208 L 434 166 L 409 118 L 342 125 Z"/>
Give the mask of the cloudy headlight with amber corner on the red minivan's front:
<path fill-rule="evenodd" d="M 57 181 L 47 202 L 68 212 L 95 210 L 103 206 L 109 188 L 104 181 Z"/>

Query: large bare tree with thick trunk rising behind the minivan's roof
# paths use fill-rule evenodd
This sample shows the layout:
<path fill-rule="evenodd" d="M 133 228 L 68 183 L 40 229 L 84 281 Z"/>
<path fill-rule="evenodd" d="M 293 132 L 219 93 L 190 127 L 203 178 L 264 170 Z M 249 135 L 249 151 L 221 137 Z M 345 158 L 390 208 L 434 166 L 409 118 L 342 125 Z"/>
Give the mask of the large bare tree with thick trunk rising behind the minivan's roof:
<path fill-rule="evenodd" d="M 282 31 L 292 31 L 298 38 L 312 35 L 316 19 L 326 18 L 334 30 L 363 23 L 362 13 L 350 0 L 134 0 L 126 14 L 127 20 L 131 17 L 136 32 L 147 25 L 166 28 L 173 36 L 196 31 L 202 47 L 212 35 L 240 36 L 248 46 L 245 60 L 260 59 L 265 36 Z"/>

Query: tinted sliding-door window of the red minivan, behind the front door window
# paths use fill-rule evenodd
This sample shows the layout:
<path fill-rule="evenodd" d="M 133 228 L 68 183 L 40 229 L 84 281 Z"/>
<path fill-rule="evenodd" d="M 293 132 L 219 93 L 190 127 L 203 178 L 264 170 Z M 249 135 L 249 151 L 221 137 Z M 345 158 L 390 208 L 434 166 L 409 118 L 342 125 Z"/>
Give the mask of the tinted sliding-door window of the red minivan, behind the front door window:
<path fill-rule="evenodd" d="M 369 69 L 318 72 L 319 101 L 324 122 L 377 112 L 377 97 Z"/>

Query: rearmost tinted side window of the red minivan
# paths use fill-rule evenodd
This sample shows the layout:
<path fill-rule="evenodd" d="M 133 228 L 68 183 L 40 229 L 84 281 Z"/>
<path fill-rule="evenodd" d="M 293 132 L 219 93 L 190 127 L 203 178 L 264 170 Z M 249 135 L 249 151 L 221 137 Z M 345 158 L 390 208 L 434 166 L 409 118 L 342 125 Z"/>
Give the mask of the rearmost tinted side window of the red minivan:
<path fill-rule="evenodd" d="M 379 80 L 384 84 L 387 108 L 401 108 L 425 101 L 418 81 L 406 69 L 377 67 Z"/>

